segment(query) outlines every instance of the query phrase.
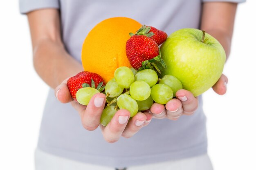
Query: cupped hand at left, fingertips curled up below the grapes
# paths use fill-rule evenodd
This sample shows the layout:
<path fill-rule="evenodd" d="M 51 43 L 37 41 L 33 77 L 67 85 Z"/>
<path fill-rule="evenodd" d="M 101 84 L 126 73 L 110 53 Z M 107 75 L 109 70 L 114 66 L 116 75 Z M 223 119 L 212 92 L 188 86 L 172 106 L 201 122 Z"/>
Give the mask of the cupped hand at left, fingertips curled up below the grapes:
<path fill-rule="evenodd" d="M 147 126 L 152 118 L 152 115 L 148 112 L 137 113 L 137 115 L 130 118 L 128 110 L 120 109 L 110 123 L 104 127 L 100 124 L 101 114 L 106 103 L 106 96 L 103 93 L 95 94 L 90 99 L 88 106 L 81 105 L 72 99 L 66 79 L 56 87 L 55 95 L 61 103 L 70 102 L 72 104 L 78 111 L 82 125 L 86 130 L 95 130 L 100 126 L 104 139 L 109 143 L 118 141 L 121 136 L 132 137 L 142 127 Z"/>

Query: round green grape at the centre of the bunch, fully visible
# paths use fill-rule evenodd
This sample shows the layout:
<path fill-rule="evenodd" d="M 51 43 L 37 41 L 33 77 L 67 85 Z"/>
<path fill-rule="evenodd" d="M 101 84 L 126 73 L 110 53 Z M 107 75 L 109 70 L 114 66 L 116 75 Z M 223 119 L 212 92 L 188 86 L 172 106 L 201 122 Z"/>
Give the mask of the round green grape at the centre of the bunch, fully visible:
<path fill-rule="evenodd" d="M 136 81 L 130 86 L 130 95 L 135 100 L 146 100 L 150 96 L 150 86 L 143 81 Z"/>

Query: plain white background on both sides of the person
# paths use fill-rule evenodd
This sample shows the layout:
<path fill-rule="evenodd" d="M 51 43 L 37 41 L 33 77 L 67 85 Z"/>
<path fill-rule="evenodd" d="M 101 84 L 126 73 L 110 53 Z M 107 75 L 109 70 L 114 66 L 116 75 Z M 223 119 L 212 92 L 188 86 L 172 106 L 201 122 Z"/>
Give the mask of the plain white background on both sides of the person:
<path fill-rule="evenodd" d="M 240 4 L 224 73 L 228 91 L 204 98 L 215 170 L 256 170 L 256 1 Z M 0 1 L 0 170 L 33 170 L 48 91 L 35 73 L 27 18 L 18 1 Z"/>

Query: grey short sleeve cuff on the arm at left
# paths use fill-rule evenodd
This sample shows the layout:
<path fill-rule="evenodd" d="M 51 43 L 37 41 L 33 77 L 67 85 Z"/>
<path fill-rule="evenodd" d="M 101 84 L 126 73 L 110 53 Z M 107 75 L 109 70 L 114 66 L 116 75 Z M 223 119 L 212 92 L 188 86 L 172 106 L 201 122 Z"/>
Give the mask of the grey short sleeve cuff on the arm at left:
<path fill-rule="evenodd" d="M 36 9 L 59 9 L 59 0 L 19 0 L 20 13 L 25 14 Z"/>

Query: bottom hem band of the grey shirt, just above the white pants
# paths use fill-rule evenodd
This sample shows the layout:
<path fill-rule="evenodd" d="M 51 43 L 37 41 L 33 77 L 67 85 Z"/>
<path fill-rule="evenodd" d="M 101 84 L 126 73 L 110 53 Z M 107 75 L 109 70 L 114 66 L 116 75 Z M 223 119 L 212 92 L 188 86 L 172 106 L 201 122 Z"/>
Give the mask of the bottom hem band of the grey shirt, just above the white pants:
<path fill-rule="evenodd" d="M 145 165 L 149 163 L 159 163 L 163 161 L 186 159 L 189 157 L 196 157 L 207 154 L 207 141 L 182 150 L 165 151 L 164 153 L 152 155 L 139 155 L 137 157 L 123 157 L 118 155 L 117 157 L 87 155 L 86 153 L 72 152 L 69 150 L 63 150 L 61 148 L 56 147 L 49 147 L 42 144 L 38 144 L 38 148 L 49 154 L 56 155 L 59 157 L 65 157 L 67 159 L 72 159 L 74 161 L 109 167 L 130 167 Z"/>

